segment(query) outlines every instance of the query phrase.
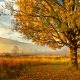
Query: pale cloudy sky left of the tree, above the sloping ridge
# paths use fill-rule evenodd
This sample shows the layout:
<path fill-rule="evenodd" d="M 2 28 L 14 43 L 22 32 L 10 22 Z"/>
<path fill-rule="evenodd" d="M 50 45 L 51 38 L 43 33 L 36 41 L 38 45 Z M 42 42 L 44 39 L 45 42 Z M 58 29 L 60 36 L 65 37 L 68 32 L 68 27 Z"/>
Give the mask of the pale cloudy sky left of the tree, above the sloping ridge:
<path fill-rule="evenodd" d="M 11 1 L 11 0 L 5 0 L 5 1 Z M 30 43 L 31 41 L 25 40 L 21 34 L 12 31 L 11 22 L 12 22 L 13 17 L 8 15 L 8 14 L 10 14 L 10 11 L 7 9 L 4 9 L 2 6 L 5 8 L 4 0 L 0 0 L 0 12 L 1 13 L 3 12 L 3 14 L 4 14 L 4 15 L 0 16 L 0 37 Z"/>

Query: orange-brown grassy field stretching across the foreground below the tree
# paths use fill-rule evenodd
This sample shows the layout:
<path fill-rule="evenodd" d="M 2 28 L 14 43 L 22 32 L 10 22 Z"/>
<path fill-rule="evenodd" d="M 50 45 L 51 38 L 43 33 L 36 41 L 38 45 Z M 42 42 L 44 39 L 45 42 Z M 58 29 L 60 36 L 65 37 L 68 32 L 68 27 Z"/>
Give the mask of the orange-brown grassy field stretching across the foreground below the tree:
<path fill-rule="evenodd" d="M 0 57 L 0 80 L 80 80 L 80 69 L 65 57 Z"/>

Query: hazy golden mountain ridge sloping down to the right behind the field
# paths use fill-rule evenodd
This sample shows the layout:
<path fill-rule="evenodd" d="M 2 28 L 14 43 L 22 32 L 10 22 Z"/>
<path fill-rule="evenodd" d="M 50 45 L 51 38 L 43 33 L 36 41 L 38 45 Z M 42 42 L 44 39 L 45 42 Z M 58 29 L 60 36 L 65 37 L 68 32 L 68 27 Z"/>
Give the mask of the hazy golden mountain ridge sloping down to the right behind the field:
<path fill-rule="evenodd" d="M 47 47 L 40 47 L 31 43 L 18 42 L 16 40 L 10 40 L 0 37 L 0 53 L 12 53 L 14 46 L 18 46 L 20 53 L 49 53 L 53 50 Z"/>

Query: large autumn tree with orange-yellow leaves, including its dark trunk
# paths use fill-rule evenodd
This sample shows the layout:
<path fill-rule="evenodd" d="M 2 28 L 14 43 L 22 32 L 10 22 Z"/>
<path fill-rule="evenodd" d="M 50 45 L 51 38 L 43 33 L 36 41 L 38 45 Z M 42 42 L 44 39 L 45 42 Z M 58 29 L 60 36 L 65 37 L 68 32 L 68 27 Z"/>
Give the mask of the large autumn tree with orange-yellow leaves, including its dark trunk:
<path fill-rule="evenodd" d="M 17 0 L 15 29 L 26 38 L 56 49 L 70 49 L 71 64 L 78 68 L 80 0 Z"/>

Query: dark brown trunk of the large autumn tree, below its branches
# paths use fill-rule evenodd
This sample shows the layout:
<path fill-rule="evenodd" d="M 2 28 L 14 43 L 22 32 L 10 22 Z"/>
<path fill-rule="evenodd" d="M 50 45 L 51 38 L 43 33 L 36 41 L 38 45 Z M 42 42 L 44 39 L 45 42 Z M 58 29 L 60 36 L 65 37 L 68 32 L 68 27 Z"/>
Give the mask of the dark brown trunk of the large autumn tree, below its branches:
<path fill-rule="evenodd" d="M 77 47 L 70 47 L 70 58 L 72 68 L 78 69 Z"/>

